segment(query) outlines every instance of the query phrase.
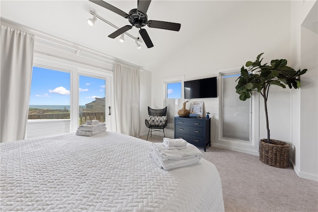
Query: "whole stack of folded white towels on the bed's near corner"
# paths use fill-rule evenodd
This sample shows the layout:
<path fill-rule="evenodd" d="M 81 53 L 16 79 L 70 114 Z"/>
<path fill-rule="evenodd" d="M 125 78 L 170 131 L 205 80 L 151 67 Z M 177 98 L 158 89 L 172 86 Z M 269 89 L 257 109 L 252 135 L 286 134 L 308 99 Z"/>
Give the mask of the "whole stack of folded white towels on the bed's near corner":
<path fill-rule="evenodd" d="M 162 143 L 152 144 L 150 155 L 159 167 L 171 170 L 195 164 L 201 160 L 203 154 L 183 139 L 164 138 Z"/>

